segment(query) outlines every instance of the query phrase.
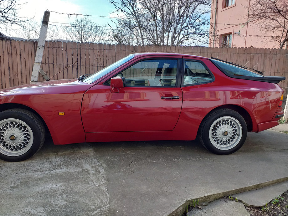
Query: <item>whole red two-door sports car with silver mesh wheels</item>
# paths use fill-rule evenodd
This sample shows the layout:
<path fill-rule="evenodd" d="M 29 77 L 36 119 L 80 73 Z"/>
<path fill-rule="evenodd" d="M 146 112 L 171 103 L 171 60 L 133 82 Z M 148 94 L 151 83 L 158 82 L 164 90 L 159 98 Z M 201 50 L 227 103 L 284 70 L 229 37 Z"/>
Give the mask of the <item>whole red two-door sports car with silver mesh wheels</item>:
<path fill-rule="evenodd" d="M 278 125 L 284 79 L 219 59 L 142 53 L 78 80 L 3 89 L 0 159 L 31 157 L 47 132 L 56 145 L 198 136 L 209 151 L 230 154 L 247 131 Z"/>

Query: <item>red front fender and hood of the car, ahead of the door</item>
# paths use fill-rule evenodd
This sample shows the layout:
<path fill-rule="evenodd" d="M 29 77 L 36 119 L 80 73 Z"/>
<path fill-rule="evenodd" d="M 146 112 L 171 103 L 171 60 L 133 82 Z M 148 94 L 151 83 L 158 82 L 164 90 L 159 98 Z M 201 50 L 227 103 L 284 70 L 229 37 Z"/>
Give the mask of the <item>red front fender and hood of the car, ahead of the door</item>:
<path fill-rule="evenodd" d="M 45 121 L 54 144 L 85 142 L 80 109 L 84 92 L 93 85 L 78 81 L 57 82 L 29 84 L 2 91 L 0 104 L 15 103 L 32 108 Z M 59 112 L 65 112 L 65 115 L 59 116 Z"/>

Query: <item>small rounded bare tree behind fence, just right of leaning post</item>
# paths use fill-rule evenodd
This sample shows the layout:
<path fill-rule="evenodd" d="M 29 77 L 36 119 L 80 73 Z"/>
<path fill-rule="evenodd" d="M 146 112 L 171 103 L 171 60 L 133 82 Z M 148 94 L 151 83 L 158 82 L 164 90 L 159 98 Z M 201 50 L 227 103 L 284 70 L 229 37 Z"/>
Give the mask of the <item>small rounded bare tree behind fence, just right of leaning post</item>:
<path fill-rule="evenodd" d="M 75 19 L 70 25 L 62 28 L 68 40 L 81 43 L 101 43 L 103 41 L 105 26 L 97 25 L 88 17 Z"/>

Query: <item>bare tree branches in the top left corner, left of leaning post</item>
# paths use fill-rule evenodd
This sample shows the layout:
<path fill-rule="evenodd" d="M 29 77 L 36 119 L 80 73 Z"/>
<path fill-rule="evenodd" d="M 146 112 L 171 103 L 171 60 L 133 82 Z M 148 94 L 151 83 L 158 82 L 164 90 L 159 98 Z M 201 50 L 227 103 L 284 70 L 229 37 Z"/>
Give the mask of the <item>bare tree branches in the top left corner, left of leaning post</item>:
<path fill-rule="evenodd" d="M 11 24 L 21 25 L 28 21 L 18 15 L 20 5 L 18 0 L 0 0 L 0 29 L 7 28 Z"/>

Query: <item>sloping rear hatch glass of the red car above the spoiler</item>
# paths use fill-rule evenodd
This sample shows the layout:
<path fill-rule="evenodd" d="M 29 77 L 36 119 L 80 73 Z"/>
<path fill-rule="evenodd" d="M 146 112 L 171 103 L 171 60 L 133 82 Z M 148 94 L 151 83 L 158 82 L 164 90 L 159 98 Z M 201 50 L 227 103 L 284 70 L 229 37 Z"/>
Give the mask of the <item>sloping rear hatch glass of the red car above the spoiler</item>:
<path fill-rule="evenodd" d="M 264 77 L 260 74 L 256 74 L 252 71 L 246 70 L 244 68 L 237 67 L 233 64 L 228 64 L 215 59 L 210 59 L 219 69 L 222 70 L 226 75 L 232 76 L 252 76 L 252 77 Z"/>

